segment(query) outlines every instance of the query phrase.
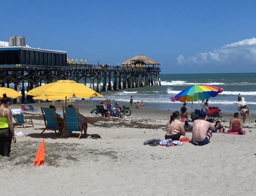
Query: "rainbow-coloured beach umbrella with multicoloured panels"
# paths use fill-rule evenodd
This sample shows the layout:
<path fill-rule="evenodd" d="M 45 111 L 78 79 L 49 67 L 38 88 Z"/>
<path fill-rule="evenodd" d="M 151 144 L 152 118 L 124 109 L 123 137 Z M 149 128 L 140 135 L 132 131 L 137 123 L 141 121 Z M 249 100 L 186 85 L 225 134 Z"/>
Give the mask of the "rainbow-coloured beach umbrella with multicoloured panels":
<path fill-rule="evenodd" d="M 223 91 L 223 88 L 209 86 L 209 85 L 198 85 L 186 88 L 174 97 L 170 99 L 175 99 L 176 101 L 198 101 L 209 99 L 210 97 L 215 97 Z"/>

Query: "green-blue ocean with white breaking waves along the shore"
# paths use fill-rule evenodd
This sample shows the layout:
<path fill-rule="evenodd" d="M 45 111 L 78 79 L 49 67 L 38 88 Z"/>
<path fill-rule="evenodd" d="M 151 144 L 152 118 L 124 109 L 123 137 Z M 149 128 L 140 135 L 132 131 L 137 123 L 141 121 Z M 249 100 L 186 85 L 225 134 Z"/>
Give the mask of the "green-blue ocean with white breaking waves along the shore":
<path fill-rule="evenodd" d="M 146 86 L 129 88 L 119 91 L 101 92 L 102 98 L 93 98 L 93 105 L 98 105 L 101 100 L 112 99 L 113 104 L 130 106 L 130 96 L 134 103 L 144 101 L 144 109 L 148 110 L 180 110 L 183 103 L 171 102 L 170 97 L 190 86 L 204 84 L 223 88 L 223 92 L 209 99 L 209 106 L 218 106 L 224 113 L 238 112 L 237 95 L 240 93 L 249 104 L 250 112 L 256 114 L 256 73 L 215 73 L 215 74 L 160 74 L 161 86 Z M 87 84 L 90 87 L 90 84 Z M 10 86 L 11 87 L 11 86 Z M 94 85 L 96 89 L 96 84 Z M 11 87 L 12 88 L 12 87 Z M 82 104 L 81 99 L 76 103 L 92 105 L 88 100 Z M 73 102 L 74 103 L 74 102 Z M 200 101 L 201 103 L 201 101 Z M 198 102 L 187 103 L 189 111 L 202 108 Z"/>

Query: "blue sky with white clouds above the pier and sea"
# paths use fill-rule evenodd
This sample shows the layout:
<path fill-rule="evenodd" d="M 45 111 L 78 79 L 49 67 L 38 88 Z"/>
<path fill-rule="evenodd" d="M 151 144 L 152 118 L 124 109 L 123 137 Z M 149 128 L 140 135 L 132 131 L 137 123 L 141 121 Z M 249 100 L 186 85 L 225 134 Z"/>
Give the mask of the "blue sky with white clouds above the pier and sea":
<path fill-rule="evenodd" d="M 17 6 L 14 6 L 17 5 Z M 256 1 L 2 1 L 0 40 L 64 50 L 87 64 L 136 55 L 161 73 L 256 72 Z"/>

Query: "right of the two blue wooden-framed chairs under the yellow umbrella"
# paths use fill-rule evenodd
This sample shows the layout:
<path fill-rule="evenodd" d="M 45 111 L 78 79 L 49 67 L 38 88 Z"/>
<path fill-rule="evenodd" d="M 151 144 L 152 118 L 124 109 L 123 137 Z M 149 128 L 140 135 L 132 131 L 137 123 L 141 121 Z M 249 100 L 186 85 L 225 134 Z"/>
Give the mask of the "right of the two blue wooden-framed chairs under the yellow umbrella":
<path fill-rule="evenodd" d="M 84 131 L 84 134 L 86 137 L 88 125 L 87 125 L 87 122 L 81 122 L 79 118 L 78 108 L 65 108 L 65 113 L 63 114 L 63 117 L 64 117 L 65 131 L 80 131 L 81 133 L 78 136 L 78 139 L 80 139 Z M 61 134 L 61 137 L 63 133 Z"/>

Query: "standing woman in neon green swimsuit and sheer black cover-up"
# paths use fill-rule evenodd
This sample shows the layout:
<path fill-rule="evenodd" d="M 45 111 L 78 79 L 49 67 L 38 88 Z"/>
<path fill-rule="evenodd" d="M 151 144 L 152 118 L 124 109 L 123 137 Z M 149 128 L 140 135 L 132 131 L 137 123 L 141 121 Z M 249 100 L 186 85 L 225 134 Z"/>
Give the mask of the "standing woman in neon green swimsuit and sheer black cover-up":
<path fill-rule="evenodd" d="M 9 105 L 11 105 L 10 98 L 3 94 L 0 105 L 0 155 L 2 156 L 10 156 L 11 138 L 16 143 L 11 110 L 7 109 Z"/>

